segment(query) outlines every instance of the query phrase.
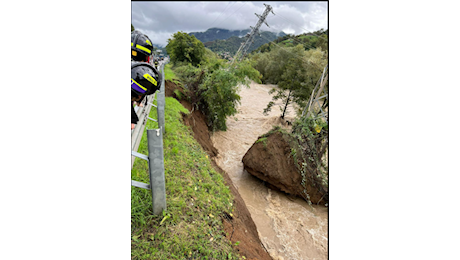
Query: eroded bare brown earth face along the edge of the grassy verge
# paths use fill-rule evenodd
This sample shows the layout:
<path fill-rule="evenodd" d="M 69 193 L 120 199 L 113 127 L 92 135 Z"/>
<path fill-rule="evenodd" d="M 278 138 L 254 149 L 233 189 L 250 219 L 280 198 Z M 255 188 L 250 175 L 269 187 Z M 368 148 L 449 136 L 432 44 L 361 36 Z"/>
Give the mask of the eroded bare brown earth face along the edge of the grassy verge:
<path fill-rule="evenodd" d="M 174 97 L 191 112 L 188 115 L 182 114 L 184 123 L 192 128 L 194 138 L 209 154 L 214 169 L 223 175 L 225 181 L 227 182 L 227 186 L 230 188 L 230 191 L 235 199 L 235 212 L 233 213 L 233 217 L 230 215 L 221 216 L 224 224 L 224 230 L 228 234 L 227 238 L 233 244 L 238 241 L 240 242 L 239 245 L 236 246 L 236 249 L 239 251 L 240 255 L 245 256 L 246 259 L 272 259 L 259 239 L 257 227 L 252 220 L 251 214 L 249 213 L 243 198 L 238 193 L 238 190 L 233 185 L 233 182 L 228 174 L 222 170 L 213 159 L 218 154 L 218 151 L 212 145 L 210 133 L 206 124 L 206 117 L 200 110 L 193 109 L 190 102 L 187 100 L 178 99 L 177 95 L 174 93 L 175 90 L 184 92 L 183 89 L 175 83 L 169 80 L 165 81 L 165 96 Z"/>

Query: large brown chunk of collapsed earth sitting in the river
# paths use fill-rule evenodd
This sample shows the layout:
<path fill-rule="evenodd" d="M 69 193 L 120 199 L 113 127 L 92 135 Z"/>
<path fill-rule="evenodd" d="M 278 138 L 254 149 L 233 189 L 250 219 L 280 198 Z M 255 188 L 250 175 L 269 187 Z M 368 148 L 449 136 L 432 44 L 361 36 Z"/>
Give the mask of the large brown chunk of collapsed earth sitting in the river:
<path fill-rule="evenodd" d="M 289 139 L 289 136 L 279 131 L 259 137 L 243 157 L 244 169 L 270 184 L 270 188 L 305 199 L 302 175 L 294 162 Z M 307 172 L 306 175 L 305 186 L 311 203 L 327 203 L 327 194 L 318 189 L 318 185 L 308 181 L 313 179 L 311 173 Z"/>

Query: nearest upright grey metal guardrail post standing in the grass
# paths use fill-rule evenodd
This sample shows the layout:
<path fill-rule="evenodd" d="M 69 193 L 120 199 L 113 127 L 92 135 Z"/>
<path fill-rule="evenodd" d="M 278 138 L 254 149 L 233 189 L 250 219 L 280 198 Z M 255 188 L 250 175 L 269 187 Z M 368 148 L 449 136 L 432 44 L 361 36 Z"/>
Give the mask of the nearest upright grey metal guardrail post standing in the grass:
<path fill-rule="evenodd" d="M 149 149 L 150 190 L 152 191 L 153 214 L 166 210 L 166 188 L 163 157 L 163 133 L 159 129 L 147 129 Z"/>

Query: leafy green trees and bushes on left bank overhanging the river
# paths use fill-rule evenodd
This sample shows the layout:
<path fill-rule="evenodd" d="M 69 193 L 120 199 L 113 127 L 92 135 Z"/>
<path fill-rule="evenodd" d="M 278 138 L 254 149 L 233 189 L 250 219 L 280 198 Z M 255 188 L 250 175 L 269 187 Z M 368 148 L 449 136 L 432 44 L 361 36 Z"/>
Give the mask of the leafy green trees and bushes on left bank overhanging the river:
<path fill-rule="evenodd" d="M 225 131 L 227 117 L 236 114 L 240 103 L 238 86 L 249 87 L 251 79 L 260 83 L 260 73 L 253 61 L 232 65 L 196 41 L 178 32 L 168 39 L 166 49 L 192 106 L 205 114 L 210 130 Z"/>

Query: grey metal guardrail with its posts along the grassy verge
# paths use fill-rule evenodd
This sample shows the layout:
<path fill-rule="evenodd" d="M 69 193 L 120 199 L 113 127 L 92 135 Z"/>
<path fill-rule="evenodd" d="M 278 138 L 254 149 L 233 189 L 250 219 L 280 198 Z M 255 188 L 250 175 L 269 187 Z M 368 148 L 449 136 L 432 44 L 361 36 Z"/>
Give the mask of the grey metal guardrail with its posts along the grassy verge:
<path fill-rule="evenodd" d="M 136 114 L 139 117 L 138 124 L 131 131 L 131 169 L 134 164 L 134 157 L 146 160 L 148 162 L 149 169 L 149 183 L 138 182 L 131 180 L 131 185 L 148 189 L 152 192 L 152 208 L 153 214 L 161 214 L 163 210 L 166 210 L 166 189 L 165 189 L 165 174 L 164 174 L 164 157 L 163 157 L 163 135 L 165 133 L 165 120 L 164 120 L 164 109 L 165 109 L 165 80 L 164 80 L 164 65 L 168 63 L 162 62 L 160 64 L 160 73 L 162 74 L 162 80 L 160 90 L 155 95 L 147 96 L 147 106 L 143 106 L 137 109 Z M 157 99 L 157 105 L 153 104 L 154 96 Z M 158 119 L 149 117 L 152 106 L 157 108 Z M 158 129 L 146 129 L 147 131 L 147 145 L 148 155 L 144 155 L 137 152 L 139 148 L 140 139 L 147 120 L 153 120 L 158 123 Z"/>

